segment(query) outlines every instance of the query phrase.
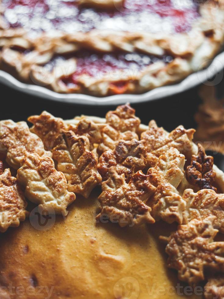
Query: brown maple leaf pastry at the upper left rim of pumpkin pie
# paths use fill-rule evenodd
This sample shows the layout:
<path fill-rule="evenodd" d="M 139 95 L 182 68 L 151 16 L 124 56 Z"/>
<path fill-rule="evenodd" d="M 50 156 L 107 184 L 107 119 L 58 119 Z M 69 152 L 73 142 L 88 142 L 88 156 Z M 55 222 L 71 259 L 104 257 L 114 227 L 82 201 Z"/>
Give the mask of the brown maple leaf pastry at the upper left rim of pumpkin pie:
<path fill-rule="evenodd" d="M 33 124 L 31 132 L 37 134 L 44 142 L 44 148 L 51 150 L 54 146 L 55 139 L 66 130 L 67 126 L 62 118 L 54 117 L 47 111 L 43 111 L 40 115 L 28 117 L 28 121 Z"/>

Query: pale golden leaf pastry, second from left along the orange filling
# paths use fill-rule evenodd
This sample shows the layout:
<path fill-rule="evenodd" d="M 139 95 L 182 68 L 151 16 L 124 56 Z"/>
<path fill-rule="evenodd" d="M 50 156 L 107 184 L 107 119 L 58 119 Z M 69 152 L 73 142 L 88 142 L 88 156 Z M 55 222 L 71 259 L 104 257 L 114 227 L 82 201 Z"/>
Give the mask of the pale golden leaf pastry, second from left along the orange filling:
<path fill-rule="evenodd" d="M 17 180 L 25 186 L 25 196 L 39 204 L 41 210 L 52 208 L 56 214 L 66 215 L 66 207 L 76 198 L 74 193 L 67 191 L 66 178 L 55 169 L 50 157 L 25 154 Z"/>

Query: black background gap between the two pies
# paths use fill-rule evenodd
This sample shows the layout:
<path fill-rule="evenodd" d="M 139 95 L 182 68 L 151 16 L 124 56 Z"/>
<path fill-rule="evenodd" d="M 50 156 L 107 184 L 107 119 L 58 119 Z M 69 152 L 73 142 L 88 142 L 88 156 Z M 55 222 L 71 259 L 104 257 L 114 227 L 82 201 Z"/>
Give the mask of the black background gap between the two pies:
<path fill-rule="evenodd" d="M 205 84 L 215 85 L 218 97 L 224 95 L 223 72 Z M 132 104 L 131 106 L 136 109 L 136 115 L 140 117 L 144 124 L 148 124 L 151 119 L 155 119 L 158 126 L 163 126 L 168 131 L 172 131 L 180 124 L 185 128 L 196 128 L 197 124 L 194 121 L 194 114 L 201 103 L 201 99 L 198 96 L 198 88 L 200 86 L 172 97 L 142 104 Z M 15 91 L 1 84 L 0 90 L 2 99 L 0 120 L 26 121 L 28 116 L 40 114 L 43 110 L 47 110 L 54 116 L 64 119 L 73 118 L 80 114 L 104 117 L 108 110 L 116 107 L 69 105 L 53 102 Z"/>

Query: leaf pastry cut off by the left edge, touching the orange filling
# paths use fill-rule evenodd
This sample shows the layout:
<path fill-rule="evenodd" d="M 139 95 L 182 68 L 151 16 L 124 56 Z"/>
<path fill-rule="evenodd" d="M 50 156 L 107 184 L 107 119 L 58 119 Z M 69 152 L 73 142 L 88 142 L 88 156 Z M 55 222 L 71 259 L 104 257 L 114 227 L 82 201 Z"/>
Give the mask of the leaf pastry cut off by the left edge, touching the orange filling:
<path fill-rule="evenodd" d="M 3 172 L 0 161 L 0 232 L 5 232 L 9 226 L 19 226 L 28 212 L 27 202 L 16 178 L 11 176 L 10 170 Z"/>

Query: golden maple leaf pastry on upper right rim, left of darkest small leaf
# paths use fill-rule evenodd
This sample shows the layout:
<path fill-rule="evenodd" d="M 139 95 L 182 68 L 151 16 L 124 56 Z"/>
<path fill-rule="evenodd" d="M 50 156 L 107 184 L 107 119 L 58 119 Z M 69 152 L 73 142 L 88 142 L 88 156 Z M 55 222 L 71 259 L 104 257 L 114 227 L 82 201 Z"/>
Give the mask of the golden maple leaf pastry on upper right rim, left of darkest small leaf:
<path fill-rule="evenodd" d="M 171 133 L 167 133 L 163 128 L 158 128 L 155 121 L 150 121 L 149 129 L 141 134 L 146 149 L 147 166 L 154 167 L 158 157 L 171 147 L 178 149 L 187 159 L 190 159 L 194 152 L 192 142 L 194 132 L 194 129 L 186 130 L 183 126 L 179 126 Z"/>

